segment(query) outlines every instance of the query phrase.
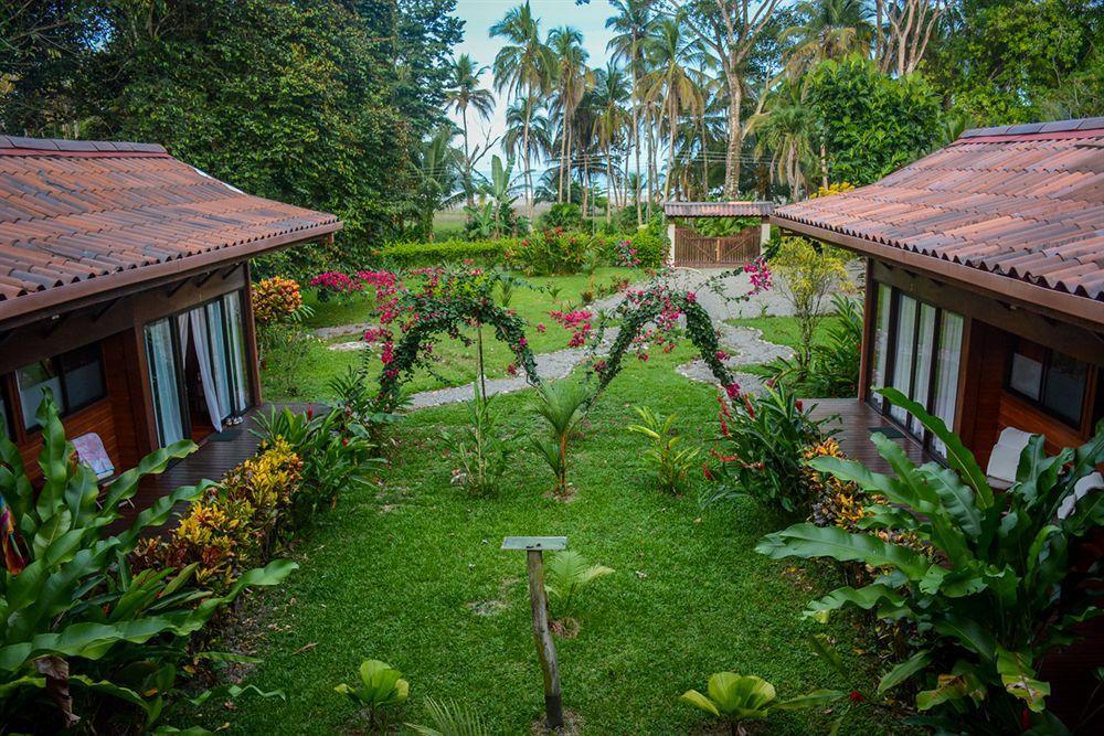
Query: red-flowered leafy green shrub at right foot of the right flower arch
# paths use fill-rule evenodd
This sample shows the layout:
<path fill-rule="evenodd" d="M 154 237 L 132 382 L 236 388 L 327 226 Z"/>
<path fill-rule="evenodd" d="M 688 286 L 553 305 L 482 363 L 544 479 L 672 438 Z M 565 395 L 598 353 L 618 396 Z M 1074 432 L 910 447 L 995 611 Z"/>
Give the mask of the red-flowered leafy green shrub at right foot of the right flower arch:
<path fill-rule="evenodd" d="M 721 436 L 705 471 L 714 486 L 702 501 L 747 495 L 787 513 L 806 512 L 813 494 L 804 455 L 825 439 L 824 420 L 813 419 L 786 386 L 744 394 L 731 408 L 723 396 L 718 403 Z"/>

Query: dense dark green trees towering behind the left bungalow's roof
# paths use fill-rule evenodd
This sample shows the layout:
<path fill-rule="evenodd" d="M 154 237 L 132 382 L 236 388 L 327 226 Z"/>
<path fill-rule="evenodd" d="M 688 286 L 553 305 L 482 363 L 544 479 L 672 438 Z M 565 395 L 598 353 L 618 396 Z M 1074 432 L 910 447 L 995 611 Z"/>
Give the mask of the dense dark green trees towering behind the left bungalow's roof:
<path fill-rule="evenodd" d="M 443 119 L 454 0 L 44 4 L 3 28 L 23 40 L 0 67 L 3 130 L 163 143 L 252 194 L 344 221 L 336 246 L 279 254 L 264 273 L 362 267 L 416 216 L 412 153 Z"/>

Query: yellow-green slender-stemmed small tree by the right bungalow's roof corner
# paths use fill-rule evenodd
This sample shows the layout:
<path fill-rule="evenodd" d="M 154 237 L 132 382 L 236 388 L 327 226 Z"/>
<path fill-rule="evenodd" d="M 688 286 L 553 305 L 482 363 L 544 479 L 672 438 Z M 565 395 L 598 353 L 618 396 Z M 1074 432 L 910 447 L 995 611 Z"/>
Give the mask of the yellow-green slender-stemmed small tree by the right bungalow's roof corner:
<path fill-rule="evenodd" d="M 813 339 L 826 316 L 831 295 L 853 286 L 847 275 L 850 259 L 842 248 L 814 245 L 804 237 L 784 237 L 771 260 L 773 271 L 782 276 L 775 287 L 789 302 L 797 319 L 800 334 L 797 356 L 803 367 L 808 366 Z"/>

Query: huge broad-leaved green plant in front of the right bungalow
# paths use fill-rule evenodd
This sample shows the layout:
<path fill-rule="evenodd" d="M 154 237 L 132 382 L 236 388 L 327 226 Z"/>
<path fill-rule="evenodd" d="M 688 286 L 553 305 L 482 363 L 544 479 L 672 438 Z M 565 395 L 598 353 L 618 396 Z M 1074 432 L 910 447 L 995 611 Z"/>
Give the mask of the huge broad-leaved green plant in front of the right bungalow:
<path fill-rule="evenodd" d="M 926 634 L 930 646 L 882 683 L 888 690 L 926 674 L 930 686 L 916 696 L 921 723 L 986 734 L 1061 730 L 1045 712 L 1050 685 L 1037 671 L 1048 652 L 1078 640 L 1078 623 L 1102 614 L 1092 595 L 1104 584 L 1100 563 L 1075 572 L 1071 556 L 1104 522 L 1104 492 L 1078 499 L 1074 490 L 1104 462 L 1104 423 L 1089 442 L 1057 456 L 1048 457 L 1043 438 L 1032 437 L 1016 483 L 996 493 L 942 420 L 895 390 L 880 393 L 946 446 L 947 467 L 917 467 L 881 434 L 872 439 L 892 476 L 816 458 L 815 469 L 882 499 L 867 508 L 864 531 L 796 524 L 767 535 L 756 550 L 774 558 L 860 562 L 881 572 L 870 585 L 811 601 L 805 615 L 822 621 L 854 607 L 911 621 Z"/>

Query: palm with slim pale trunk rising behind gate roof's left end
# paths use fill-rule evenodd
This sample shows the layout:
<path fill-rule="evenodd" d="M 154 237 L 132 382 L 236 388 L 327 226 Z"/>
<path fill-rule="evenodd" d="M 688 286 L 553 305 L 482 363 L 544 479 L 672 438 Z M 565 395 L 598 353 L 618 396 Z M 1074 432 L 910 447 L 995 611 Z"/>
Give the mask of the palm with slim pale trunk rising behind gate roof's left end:
<path fill-rule="evenodd" d="M 662 99 L 662 111 L 667 116 L 667 180 L 664 183 L 664 200 L 670 198 L 679 115 L 682 110 L 698 110 L 702 107 L 701 90 L 694 84 L 691 71 L 692 65 L 699 61 L 700 53 L 687 38 L 678 20 L 667 18 L 656 22 L 645 47 L 650 67 L 644 78 L 645 96 L 649 99 Z"/>

